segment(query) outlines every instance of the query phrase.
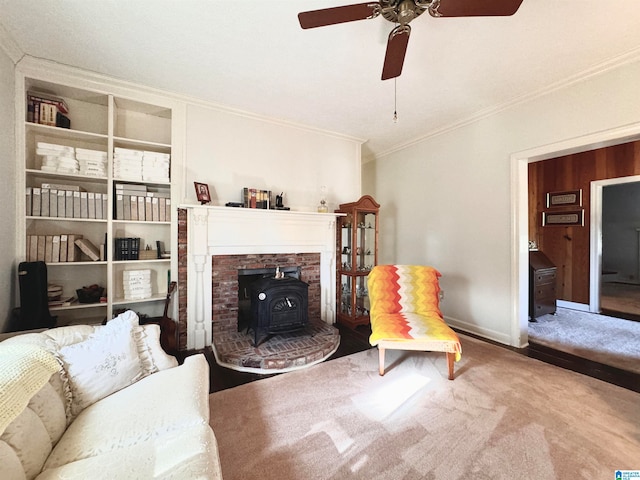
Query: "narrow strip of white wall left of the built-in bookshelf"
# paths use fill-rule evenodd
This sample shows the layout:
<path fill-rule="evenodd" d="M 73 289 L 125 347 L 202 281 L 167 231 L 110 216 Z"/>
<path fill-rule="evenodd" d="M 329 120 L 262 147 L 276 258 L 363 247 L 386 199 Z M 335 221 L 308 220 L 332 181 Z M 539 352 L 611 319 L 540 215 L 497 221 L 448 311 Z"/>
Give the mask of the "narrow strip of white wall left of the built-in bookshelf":
<path fill-rule="evenodd" d="M 0 48 L 0 245 L 7 253 L 15 252 L 16 160 L 14 140 L 15 86 L 13 61 Z M 9 321 L 17 293 L 17 265 L 13 255 L 0 255 L 0 332 Z"/>

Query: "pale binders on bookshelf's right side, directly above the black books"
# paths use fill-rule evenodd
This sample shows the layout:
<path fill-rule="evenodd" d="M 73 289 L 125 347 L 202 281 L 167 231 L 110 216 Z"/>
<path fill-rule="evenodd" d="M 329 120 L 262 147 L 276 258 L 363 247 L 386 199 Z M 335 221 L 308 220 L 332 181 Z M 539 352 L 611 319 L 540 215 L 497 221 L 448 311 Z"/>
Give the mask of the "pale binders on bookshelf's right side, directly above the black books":
<path fill-rule="evenodd" d="M 171 193 L 149 192 L 146 185 L 116 183 L 115 219 L 171 221 Z"/>

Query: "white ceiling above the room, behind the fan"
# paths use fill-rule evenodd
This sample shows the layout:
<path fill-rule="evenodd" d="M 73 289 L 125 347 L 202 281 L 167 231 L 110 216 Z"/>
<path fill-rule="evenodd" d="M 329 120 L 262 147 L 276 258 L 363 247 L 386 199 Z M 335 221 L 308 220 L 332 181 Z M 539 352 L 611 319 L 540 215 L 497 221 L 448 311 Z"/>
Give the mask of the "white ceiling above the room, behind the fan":
<path fill-rule="evenodd" d="M 396 86 L 382 17 L 298 24 L 359 1 L 0 0 L 0 25 L 28 55 L 356 137 L 365 156 L 640 56 L 638 0 L 524 0 L 512 17 L 415 19 Z"/>

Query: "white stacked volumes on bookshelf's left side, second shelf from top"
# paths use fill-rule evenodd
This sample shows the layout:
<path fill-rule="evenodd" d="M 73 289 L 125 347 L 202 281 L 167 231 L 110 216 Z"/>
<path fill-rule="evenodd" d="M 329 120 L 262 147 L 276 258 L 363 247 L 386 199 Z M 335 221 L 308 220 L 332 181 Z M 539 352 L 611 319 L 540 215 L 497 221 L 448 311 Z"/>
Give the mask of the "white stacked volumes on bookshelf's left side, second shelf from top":
<path fill-rule="evenodd" d="M 36 154 L 41 157 L 40 170 L 43 172 L 99 178 L 107 176 L 107 152 L 101 150 L 37 142 Z"/>

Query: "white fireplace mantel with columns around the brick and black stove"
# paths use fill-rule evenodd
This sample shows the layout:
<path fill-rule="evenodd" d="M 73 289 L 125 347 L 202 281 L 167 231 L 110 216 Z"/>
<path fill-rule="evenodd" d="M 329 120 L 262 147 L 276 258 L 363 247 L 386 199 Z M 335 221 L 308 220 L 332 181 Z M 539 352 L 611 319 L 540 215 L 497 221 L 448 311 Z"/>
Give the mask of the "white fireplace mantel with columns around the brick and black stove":
<path fill-rule="evenodd" d="M 215 255 L 320 253 L 321 316 L 335 323 L 336 217 L 342 214 L 182 205 L 187 210 L 187 348 L 211 345 Z"/>

